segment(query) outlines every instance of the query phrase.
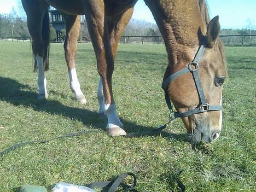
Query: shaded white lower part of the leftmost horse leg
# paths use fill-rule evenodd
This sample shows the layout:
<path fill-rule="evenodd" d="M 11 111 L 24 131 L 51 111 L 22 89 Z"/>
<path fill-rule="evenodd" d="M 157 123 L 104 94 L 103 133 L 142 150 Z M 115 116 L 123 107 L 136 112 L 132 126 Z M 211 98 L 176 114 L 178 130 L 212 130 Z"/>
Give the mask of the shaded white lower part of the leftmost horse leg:
<path fill-rule="evenodd" d="M 39 100 L 48 98 L 48 93 L 46 90 L 46 78 L 44 75 L 44 58 L 37 55 L 35 57 L 36 62 L 37 62 L 37 68 L 38 68 L 38 79 L 37 79 L 37 84 L 38 84 L 38 96 L 37 98 Z"/>

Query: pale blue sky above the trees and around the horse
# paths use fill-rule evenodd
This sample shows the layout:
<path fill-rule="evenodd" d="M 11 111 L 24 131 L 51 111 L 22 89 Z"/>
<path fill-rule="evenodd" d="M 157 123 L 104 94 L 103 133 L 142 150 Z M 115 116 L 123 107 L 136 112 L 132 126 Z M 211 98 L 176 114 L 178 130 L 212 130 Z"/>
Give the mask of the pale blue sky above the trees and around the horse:
<path fill-rule="evenodd" d="M 9 13 L 20 0 L 0 0 L 0 13 Z M 256 29 L 256 0 L 208 0 L 210 15 L 219 15 L 222 28 L 246 28 L 248 22 Z M 135 5 L 133 18 L 155 22 L 143 0 Z"/>

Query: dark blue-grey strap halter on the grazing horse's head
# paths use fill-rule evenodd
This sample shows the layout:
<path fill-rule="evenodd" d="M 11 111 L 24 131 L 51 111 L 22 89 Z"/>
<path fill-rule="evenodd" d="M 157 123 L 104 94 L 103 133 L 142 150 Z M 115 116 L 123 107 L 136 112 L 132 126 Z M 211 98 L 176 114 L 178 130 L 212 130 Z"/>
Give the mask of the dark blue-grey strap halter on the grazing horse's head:
<path fill-rule="evenodd" d="M 162 82 L 162 89 L 164 89 L 164 91 L 165 91 L 166 104 L 167 104 L 170 112 L 173 113 L 172 104 L 171 104 L 170 98 L 168 97 L 168 94 L 167 94 L 168 84 L 170 84 L 172 82 L 172 80 L 176 79 L 177 77 L 179 77 L 185 73 L 190 72 L 193 75 L 197 93 L 199 94 L 200 106 L 196 107 L 192 110 L 188 110 L 187 112 L 184 112 L 184 113 L 174 112 L 174 118 L 184 118 L 184 117 L 188 117 L 190 115 L 196 114 L 196 113 L 203 113 L 203 112 L 209 112 L 209 111 L 213 111 L 213 110 L 222 110 L 223 109 L 222 105 L 213 106 L 213 105 L 208 104 L 205 99 L 205 94 L 203 94 L 202 85 L 201 85 L 201 81 L 200 81 L 199 74 L 198 74 L 198 68 L 199 68 L 199 61 L 200 61 L 203 53 L 205 53 L 205 50 L 206 50 L 206 37 L 203 37 L 202 44 L 199 47 L 199 49 L 197 50 L 194 60 L 188 64 L 188 67 L 181 69 L 180 71 L 178 71 L 176 73 L 171 74 L 167 79 L 165 79 Z M 194 69 L 191 66 L 194 66 L 193 67 Z"/>

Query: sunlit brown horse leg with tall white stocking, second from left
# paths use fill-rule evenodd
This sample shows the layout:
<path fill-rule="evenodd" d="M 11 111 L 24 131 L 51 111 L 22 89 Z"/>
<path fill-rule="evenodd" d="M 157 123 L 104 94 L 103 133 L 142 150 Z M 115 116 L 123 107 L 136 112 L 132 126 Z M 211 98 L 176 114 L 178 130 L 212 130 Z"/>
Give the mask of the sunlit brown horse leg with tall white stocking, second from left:
<path fill-rule="evenodd" d="M 80 32 L 80 15 L 63 15 L 66 21 L 66 40 L 64 43 L 65 59 L 68 67 L 70 88 L 75 95 L 75 100 L 86 103 L 85 96 L 80 89 L 80 84 L 75 70 L 75 55 L 77 52 L 77 39 Z"/>

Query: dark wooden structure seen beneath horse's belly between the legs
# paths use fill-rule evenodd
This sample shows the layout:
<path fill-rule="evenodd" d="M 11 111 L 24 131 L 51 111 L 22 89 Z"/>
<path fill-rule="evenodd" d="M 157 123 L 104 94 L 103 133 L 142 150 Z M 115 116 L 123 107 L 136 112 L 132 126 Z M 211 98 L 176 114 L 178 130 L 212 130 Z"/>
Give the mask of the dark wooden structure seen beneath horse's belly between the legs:
<path fill-rule="evenodd" d="M 65 29 L 65 19 L 60 13 L 60 11 L 54 9 L 49 10 L 51 25 L 54 27 L 56 31 L 56 42 L 63 42 L 65 41 L 66 34 L 63 34 L 62 30 Z M 85 16 L 81 17 L 81 30 L 84 31 L 85 26 Z"/>

